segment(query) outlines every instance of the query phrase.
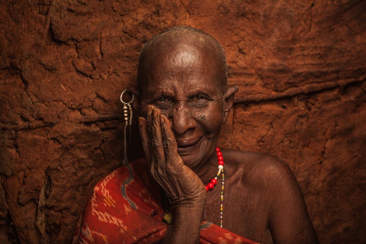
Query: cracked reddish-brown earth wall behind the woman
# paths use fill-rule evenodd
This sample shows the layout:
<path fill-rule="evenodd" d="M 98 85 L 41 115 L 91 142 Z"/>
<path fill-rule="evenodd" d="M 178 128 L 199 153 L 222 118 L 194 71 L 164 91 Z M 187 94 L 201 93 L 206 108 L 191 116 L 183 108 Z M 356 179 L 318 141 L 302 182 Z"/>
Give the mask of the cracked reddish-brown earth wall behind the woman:
<path fill-rule="evenodd" d="M 139 50 L 174 25 L 227 53 L 239 92 L 220 145 L 285 160 L 322 243 L 366 241 L 363 1 L 3 2 L 1 243 L 72 240 L 94 184 L 123 159 L 118 99 Z"/>

